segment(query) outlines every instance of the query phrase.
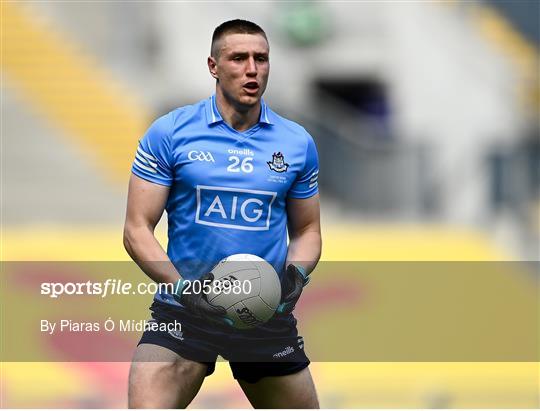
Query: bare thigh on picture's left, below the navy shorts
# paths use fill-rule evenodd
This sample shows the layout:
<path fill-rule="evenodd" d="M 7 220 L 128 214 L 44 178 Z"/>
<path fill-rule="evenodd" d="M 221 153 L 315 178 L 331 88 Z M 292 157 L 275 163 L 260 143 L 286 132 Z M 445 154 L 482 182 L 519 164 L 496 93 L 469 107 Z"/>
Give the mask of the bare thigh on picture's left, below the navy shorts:
<path fill-rule="evenodd" d="M 139 345 L 129 371 L 128 407 L 187 407 L 199 392 L 207 367 L 158 345 Z"/>

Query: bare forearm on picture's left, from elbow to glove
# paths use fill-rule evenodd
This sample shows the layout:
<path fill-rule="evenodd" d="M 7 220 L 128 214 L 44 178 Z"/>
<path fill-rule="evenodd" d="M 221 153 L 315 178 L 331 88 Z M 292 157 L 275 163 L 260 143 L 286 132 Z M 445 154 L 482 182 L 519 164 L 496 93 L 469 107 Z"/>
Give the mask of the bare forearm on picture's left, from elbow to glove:
<path fill-rule="evenodd" d="M 124 246 L 133 261 L 155 282 L 173 284 L 180 278 L 167 253 L 148 227 L 126 226 Z"/>

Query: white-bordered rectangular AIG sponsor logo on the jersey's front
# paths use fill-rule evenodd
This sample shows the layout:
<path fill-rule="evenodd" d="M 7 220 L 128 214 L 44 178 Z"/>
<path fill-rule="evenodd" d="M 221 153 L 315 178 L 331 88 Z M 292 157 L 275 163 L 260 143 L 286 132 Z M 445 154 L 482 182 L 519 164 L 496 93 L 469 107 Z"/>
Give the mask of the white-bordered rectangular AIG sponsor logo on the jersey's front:
<path fill-rule="evenodd" d="M 241 188 L 197 186 L 197 224 L 237 230 L 270 228 L 276 192 Z"/>

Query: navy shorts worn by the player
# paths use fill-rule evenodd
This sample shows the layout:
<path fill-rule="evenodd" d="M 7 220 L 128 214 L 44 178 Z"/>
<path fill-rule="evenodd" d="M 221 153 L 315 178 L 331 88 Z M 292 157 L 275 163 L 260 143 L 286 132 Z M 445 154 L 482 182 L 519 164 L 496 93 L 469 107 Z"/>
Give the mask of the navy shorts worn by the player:
<path fill-rule="evenodd" d="M 181 324 L 181 327 L 153 327 L 143 333 L 139 344 L 154 344 L 181 357 L 206 364 L 211 375 L 218 355 L 229 361 L 237 380 L 255 383 L 263 377 L 297 373 L 309 365 L 303 338 L 298 335 L 292 314 L 274 316 L 250 330 L 204 321 L 185 309 L 154 301 L 152 322 Z"/>

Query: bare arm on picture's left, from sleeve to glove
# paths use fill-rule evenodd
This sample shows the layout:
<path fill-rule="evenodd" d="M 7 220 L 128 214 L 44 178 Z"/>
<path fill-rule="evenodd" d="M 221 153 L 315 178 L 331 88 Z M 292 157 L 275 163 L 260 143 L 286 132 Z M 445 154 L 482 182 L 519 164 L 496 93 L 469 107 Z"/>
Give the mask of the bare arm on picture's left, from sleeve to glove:
<path fill-rule="evenodd" d="M 124 247 L 130 257 L 157 283 L 174 284 L 180 274 L 154 236 L 169 196 L 169 187 L 135 174 L 129 180 Z"/>

